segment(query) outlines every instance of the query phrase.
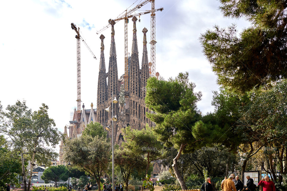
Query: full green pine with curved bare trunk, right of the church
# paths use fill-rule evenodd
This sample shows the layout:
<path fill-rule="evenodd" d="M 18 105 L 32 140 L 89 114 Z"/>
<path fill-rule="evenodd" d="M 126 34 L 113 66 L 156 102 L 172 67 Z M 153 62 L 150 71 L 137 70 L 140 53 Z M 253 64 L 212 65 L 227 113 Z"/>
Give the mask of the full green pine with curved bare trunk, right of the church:
<path fill-rule="evenodd" d="M 146 87 L 146 106 L 153 111 L 147 117 L 156 123 L 158 139 L 165 146 L 178 150 L 173 159 L 173 169 L 181 189 L 186 190 L 177 165 L 181 153 L 193 152 L 221 137 L 221 129 L 201 121 L 202 116 L 196 106 L 201 100 L 201 92 L 194 92 L 195 84 L 189 82 L 188 73 L 179 73 L 169 81 L 149 78 Z"/>

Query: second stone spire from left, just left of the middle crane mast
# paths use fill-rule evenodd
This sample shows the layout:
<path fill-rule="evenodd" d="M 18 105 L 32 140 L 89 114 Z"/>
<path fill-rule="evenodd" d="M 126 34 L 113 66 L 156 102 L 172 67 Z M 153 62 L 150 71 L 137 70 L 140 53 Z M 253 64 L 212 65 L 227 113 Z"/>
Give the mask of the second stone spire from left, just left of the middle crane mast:
<path fill-rule="evenodd" d="M 112 39 L 111 39 L 111 49 L 110 49 L 110 58 L 109 58 L 109 71 L 108 71 L 108 100 L 113 96 L 117 96 L 119 93 L 118 90 L 118 78 L 117 78 L 117 55 L 116 55 L 116 45 L 115 45 L 115 30 L 114 25 L 115 21 L 110 22 L 112 25 Z"/>

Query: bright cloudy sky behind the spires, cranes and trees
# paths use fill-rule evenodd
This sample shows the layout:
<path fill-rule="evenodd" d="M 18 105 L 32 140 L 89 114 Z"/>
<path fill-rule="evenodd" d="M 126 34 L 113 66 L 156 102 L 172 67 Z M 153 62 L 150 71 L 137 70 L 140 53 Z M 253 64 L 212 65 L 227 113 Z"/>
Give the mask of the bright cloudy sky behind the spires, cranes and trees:
<path fill-rule="evenodd" d="M 141 0 L 16 0 L 0 1 L 0 101 L 4 108 L 17 100 L 26 101 L 33 111 L 42 103 L 63 132 L 77 107 L 77 40 L 71 23 L 80 33 L 97 59 L 81 43 L 81 100 L 86 109 L 97 103 L 97 79 L 100 63 L 100 34 L 105 45 L 106 70 L 109 64 L 111 28 L 96 32 L 126 9 Z M 135 4 L 133 4 L 135 3 Z M 199 37 L 215 24 L 227 27 L 237 24 L 239 33 L 250 23 L 243 19 L 223 17 L 216 0 L 155 0 L 156 56 L 155 72 L 165 80 L 188 72 L 196 91 L 202 92 L 198 108 L 203 114 L 212 112 L 212 91 L 217 91 L 216 75 L 202 53 Z M 129 8 L 130 7 L 130 8 Z M 133 14 L 151 9 L 147 3 Z M 139 19 L 139 18 L 138 18 Z M 144 27 L 150 42 L 150 15 L 137 22 L 137 39 L 141 66 Z M 128 50 L 132 47 L 132 21 L 128 24 Z M 115 24 L 118 76 L 124 74 L 124 23 Z M 148 57 L 150 58 L 150 46 Z M 83 104 L 82 103 L 82 104 Z M 82 105 L 81 104 L 81 105 Z M 57 152 L 59 147 L 56 148 Z"/>

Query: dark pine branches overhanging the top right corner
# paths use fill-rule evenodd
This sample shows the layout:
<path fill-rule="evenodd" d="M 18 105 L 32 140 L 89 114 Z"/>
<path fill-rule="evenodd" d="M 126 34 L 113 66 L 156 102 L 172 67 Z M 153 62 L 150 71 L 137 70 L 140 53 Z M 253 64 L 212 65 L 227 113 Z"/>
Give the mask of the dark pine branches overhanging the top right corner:
<path fill-rule="evenodd" d="M 225 17 L 245 18 L 251 26 L 237 34 L 236 25 L 214 26 L 201 34 L 204 55 L 218 82 L 244 93 L 275 82 L 287 72 L 286 11 L 284 1 L 220 0 Z"/>

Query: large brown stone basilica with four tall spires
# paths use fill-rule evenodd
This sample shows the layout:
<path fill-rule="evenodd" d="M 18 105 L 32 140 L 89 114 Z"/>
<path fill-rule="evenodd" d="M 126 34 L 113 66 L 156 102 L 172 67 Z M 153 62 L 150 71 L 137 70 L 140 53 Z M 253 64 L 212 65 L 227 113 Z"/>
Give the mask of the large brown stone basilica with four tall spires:
<path fill-rule="evenodd" d="M 143 40 L 143 56 L 141 69 L 139 66 L 138 58 L 138 41 L 137 41 L 137 29 L 136 29 L 136 17 L 132 18 L 133 21 L 133 39 L 132 39 L 132 54 L 128 57 L 128 91 L 124 91 L 123 83 L 124 78 L 121 76 L 118 78 L 117 72 L 117 55 L 115 46 L 115 21 L 111 21 L 112 25 L 112 38 L 109 55 L 109 68 L 106 73 L 106 64 L 104 56 L 104 38 L 101 35 L 101 54 L 100 54 L 100 68 L 98 76 L 97 87 L 97 108 L 94 109 L 93 103 L 91 109 L 85 109 L 83 104 L 83 110 L 81 111 L 80 121 L 77 119 L 77 111 L 74 110 L 73 121 L 70 121 L 69 127 L 65 126 L 64 133 L 66 138 L 74 139 L 82 135 L 83 130 L 91 121 L 99 122 L 103 127 L 112 124 L 112 112 L 106 112 L 106 108 L 110 106 L 112 108 L 112 99 L 117 98 L 118 103 L 114 104 L 114 115 L 117 115 L 118 121 L 114 122 L 114 141 L 115 144 L 121 144 L 123 141 L 122 128 L 130 126 L 133 129 L 143 129 L 146 124 L 150 127 L 155 123 L 146 118 L 146 113 L 150 112 L 145 106 L 144 98 L 146 96 L 146 81 L 149 78 L 149 61 L 146 48 L 146 33 L 147 29 L 142 30 L 144 35 Z M 108 81 L 107 81 L 108 78 Z M 80 125 L 78 123 L 80 122 Z M 112 125 L 111 125 L 112 126 Z M 69 133 L 67 132 L 69 128 Z M 112 137 L 111 131 L 108 131 L 108 136 Z M 65 165 L 63 161 L 63 142 L 60 144 L 60 159 L 59 163 Z M 154 174 L 160 173 L 160 164 L 154 164 Z"/>

